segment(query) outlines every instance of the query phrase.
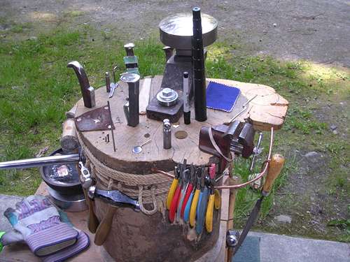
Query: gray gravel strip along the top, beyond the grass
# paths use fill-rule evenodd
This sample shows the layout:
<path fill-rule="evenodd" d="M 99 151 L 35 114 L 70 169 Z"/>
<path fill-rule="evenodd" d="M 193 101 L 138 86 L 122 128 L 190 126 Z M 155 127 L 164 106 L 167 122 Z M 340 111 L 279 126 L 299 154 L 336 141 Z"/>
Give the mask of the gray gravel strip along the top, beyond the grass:
<path fill-rule="evenodd" d="M 245 43 L 251 53 L 350 66 L 347 0 L 97 1 L 1 0 L 0 17 L 50 29 L 62 20 L 86 23 L 134 41 L 157 34 L 168 14 L 200 6 L 219 21 L 218 35 Z"/>

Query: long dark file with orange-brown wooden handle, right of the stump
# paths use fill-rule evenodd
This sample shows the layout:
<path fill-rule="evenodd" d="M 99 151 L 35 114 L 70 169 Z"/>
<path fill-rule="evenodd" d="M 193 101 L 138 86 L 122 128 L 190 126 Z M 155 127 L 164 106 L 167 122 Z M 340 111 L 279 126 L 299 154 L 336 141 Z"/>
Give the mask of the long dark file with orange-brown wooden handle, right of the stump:
<path fill-rule="evenodd" d="M 251 211 L 251 214 L 249 215 L 248 221 L 246 221 L 246 225 L 243 228 L 243 231 L 241 235 L 239 236 L 239 239 L 237 241 L 237 245 L 231 249 L 232 256 L 235 255 L 241 244 L 244 242 L 244 239 L 246 238 L 246 235 L 248 234 L 249 230 L 254 224 L 255 219 L 258 217 L 261 202 L 264 199 L 265 196 L 269 195 L 269 191 L 272 189 L 272 185 L 274 184 L 274 180 L 279 176 L 281 173 L 281 169 L 283 168 L 284 164 L 284 157 L 281 154 L 274 154 L 271 158 L 271 161 L 269 162 L 269 169 L 267 170 L 267 176 L 265 180 L 265 184 L 262 187 L 261 194 L 262 196 L 256 201 L 255 206 L 253 210 Z M 231 253 L 230 249 L 228 254 Z M 231 259 L 232 256 L 228 256 L 228 259 Z M 230 260 L 231 261 L 231 260 Z"/>

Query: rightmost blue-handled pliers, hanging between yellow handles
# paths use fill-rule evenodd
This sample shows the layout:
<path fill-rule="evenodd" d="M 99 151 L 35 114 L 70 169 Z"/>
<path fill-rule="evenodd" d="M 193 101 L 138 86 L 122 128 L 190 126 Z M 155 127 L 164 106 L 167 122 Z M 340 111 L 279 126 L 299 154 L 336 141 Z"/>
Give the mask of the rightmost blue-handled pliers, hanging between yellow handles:
<path fill-rule="evenodd" d="M 201 179 L 201 191 L 200 191 L 200 200 L 197 205 L 197 223 L 196 223 L 196 232 L 198 235 L 202 233 L 204 227 L 205 213 L 207 210 L 208 198 L 209 198 L 209 188 L 205 185 L 204 180 L 207 178 L 207 169 L 202 167 L 202 179 Z"/>

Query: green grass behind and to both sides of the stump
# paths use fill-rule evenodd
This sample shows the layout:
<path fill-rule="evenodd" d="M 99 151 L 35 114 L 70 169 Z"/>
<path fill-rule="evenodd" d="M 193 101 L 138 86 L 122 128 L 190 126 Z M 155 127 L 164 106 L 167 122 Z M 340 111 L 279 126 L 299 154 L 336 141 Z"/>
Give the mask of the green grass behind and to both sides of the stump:
<path fill-rule="evenodd" d="M 78 16 L 80 13 L 67 15 Z M 11 34 L 21 34 L 16 25 Z M 78 81 L 66 64 L 78 60 L 83 64 L 90 84 L 104 84 L 104 72 L 116 64 L 123 71 L 123 44 L 111 38 L 108 31 L 88 26 L 76 30 L 61 27 L 31 40 L 6 38 L 0 42 L 0 160 L 34 157 L 43 147 L 53 151 L 59 146 L 64 112 L 80 98 Z M 153 38 L 136 43 L 141 75 L 158 75 L 164 70 L 162 45 Z M 239 44 L 216 43 L 209 48 L 206 68 L 209 78 L 226 78 L 257 82 L 274 87 L 290 101 L 283 129 L 276 133 L 274 152 L 286 156 L 283 172 L 262 205 L 262 218 L 274 208 L 275 192 L 297 172 L 295 149 L 316 150 L 327 154 L 330 175 L 325 184 L 327 194 L 349 199 L 349 143 L 329 131 L 330 119 L 318 113 L 325 103 L 349 101 L 350 74 L 339 68 L 326 68 L 309 61 L 279 61 L 267 56 L 235 54 Z M 338 111 L 335 112 L 337 117 Z M 339 110 L 339 129 L 346 127 L 346 111 Z M 268 138 L 263 147 L 267 149 Z M 266 154 L 266 152 L 265 152 Z M 235 173 L 246 180 L 249 162 L 241 159 Z M 335 178 L 334 178 L 335 177 Z M 36 169 L 0 172 L 0 193 L 33 194 L 41 177 Z M 239 190 L 236 223 L 244 224 L 246 216 L 260 194 L 249 188 Z M 290 206 L 292 198 L 287 198 Z M 335 228 L 338 228 L 335 226 Z M 344 230 L 344 229 L 342 229 Z M 343 231 L 342 231 L 343 232 Z M 341 233 L 343 240 L 346 235 Z"/>

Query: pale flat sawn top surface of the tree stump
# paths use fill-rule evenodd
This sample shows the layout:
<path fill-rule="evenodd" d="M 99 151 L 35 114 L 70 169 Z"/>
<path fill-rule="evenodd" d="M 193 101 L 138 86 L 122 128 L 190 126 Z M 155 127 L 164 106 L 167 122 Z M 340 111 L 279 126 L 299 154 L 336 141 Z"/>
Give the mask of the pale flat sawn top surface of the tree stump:
<path fill-rule="evenodd" d="M 187 159 L 188 163 L 197 165 L 209 163 L 210 154 L 201 152 L 198 148 L 200 128 L 223 124 L 241 111 L 242 105 L 258 95 L 248 103 L 244 113 L 237 120 L 248 119 L 255 129 L 267 131 L 274 126 L 280 129 L 288 109 L 288 101 L 277 94 L 272 87 L 251 83 L 237 82 L 232 80 L 208 79 L 225 85 L 238 87 L 241 90 L 239 99 L 232 112 L 207 109 L 208 120 L 206 122 L 195 121 L 195 112 L 191 105 L 191 124 L 183 124 L 183 117 L 179 120 L 179 126 L 172 126 L 172 149 L 165 150 L 162 145 L 162 122 L 148 119 L 146 115 L 140 115 L 140 124 L 136 127 L 127 126 L 123 105 L 127 102 L 127 84 L 119 82 L 114 96 L 110 99 L 113 124 L 116 126 L 114 137 L 116 139 L 116 152 L 113 152 L 112 143 L 106 143 L 104 137 L 111 131 L 80 132 L 80 138 L 89 147 L 92 154 L 107 166 L 127 173 L 146 174 L 152 173 L 151 167 L 157 166 L 165 170 L 174 168 L 174 162 L 182 162 Z M 162 82 L 162 76 L 155 76 L 151 82 L 150 100 L 157 94 Z M 140 87 L 144 84 L 141 80 Z M 96 107 L 106 105 L 108 93 L 102 87 L 95 91 Z M 143 99 L 142 99 L 143 100 Z M 94 108 L 85 108 L 83 100 L 78 101 L 76 117 Z M 187 137 L 176 138 L 176 132 L 185 131 Z M 110 136 L 111 138 L 111 136 Z M 134 154 L 132 147 L 140 145 L 148 139 L 152 142 L 143 147 L 140 154 Z"/>

